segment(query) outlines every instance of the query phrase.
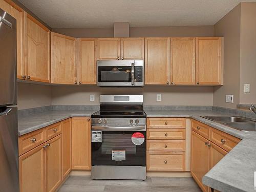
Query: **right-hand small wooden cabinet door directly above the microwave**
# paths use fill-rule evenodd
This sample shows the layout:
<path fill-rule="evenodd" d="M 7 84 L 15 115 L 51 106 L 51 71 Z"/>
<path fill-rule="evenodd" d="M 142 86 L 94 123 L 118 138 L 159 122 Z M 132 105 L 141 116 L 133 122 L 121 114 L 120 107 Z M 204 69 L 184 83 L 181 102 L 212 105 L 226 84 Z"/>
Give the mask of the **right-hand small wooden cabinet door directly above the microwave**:
<path fill-rule="evenodd" d="M 143 60 L 145 38 L 129 37 L 121 38 L 121 59 L 122 60 Z"/>

